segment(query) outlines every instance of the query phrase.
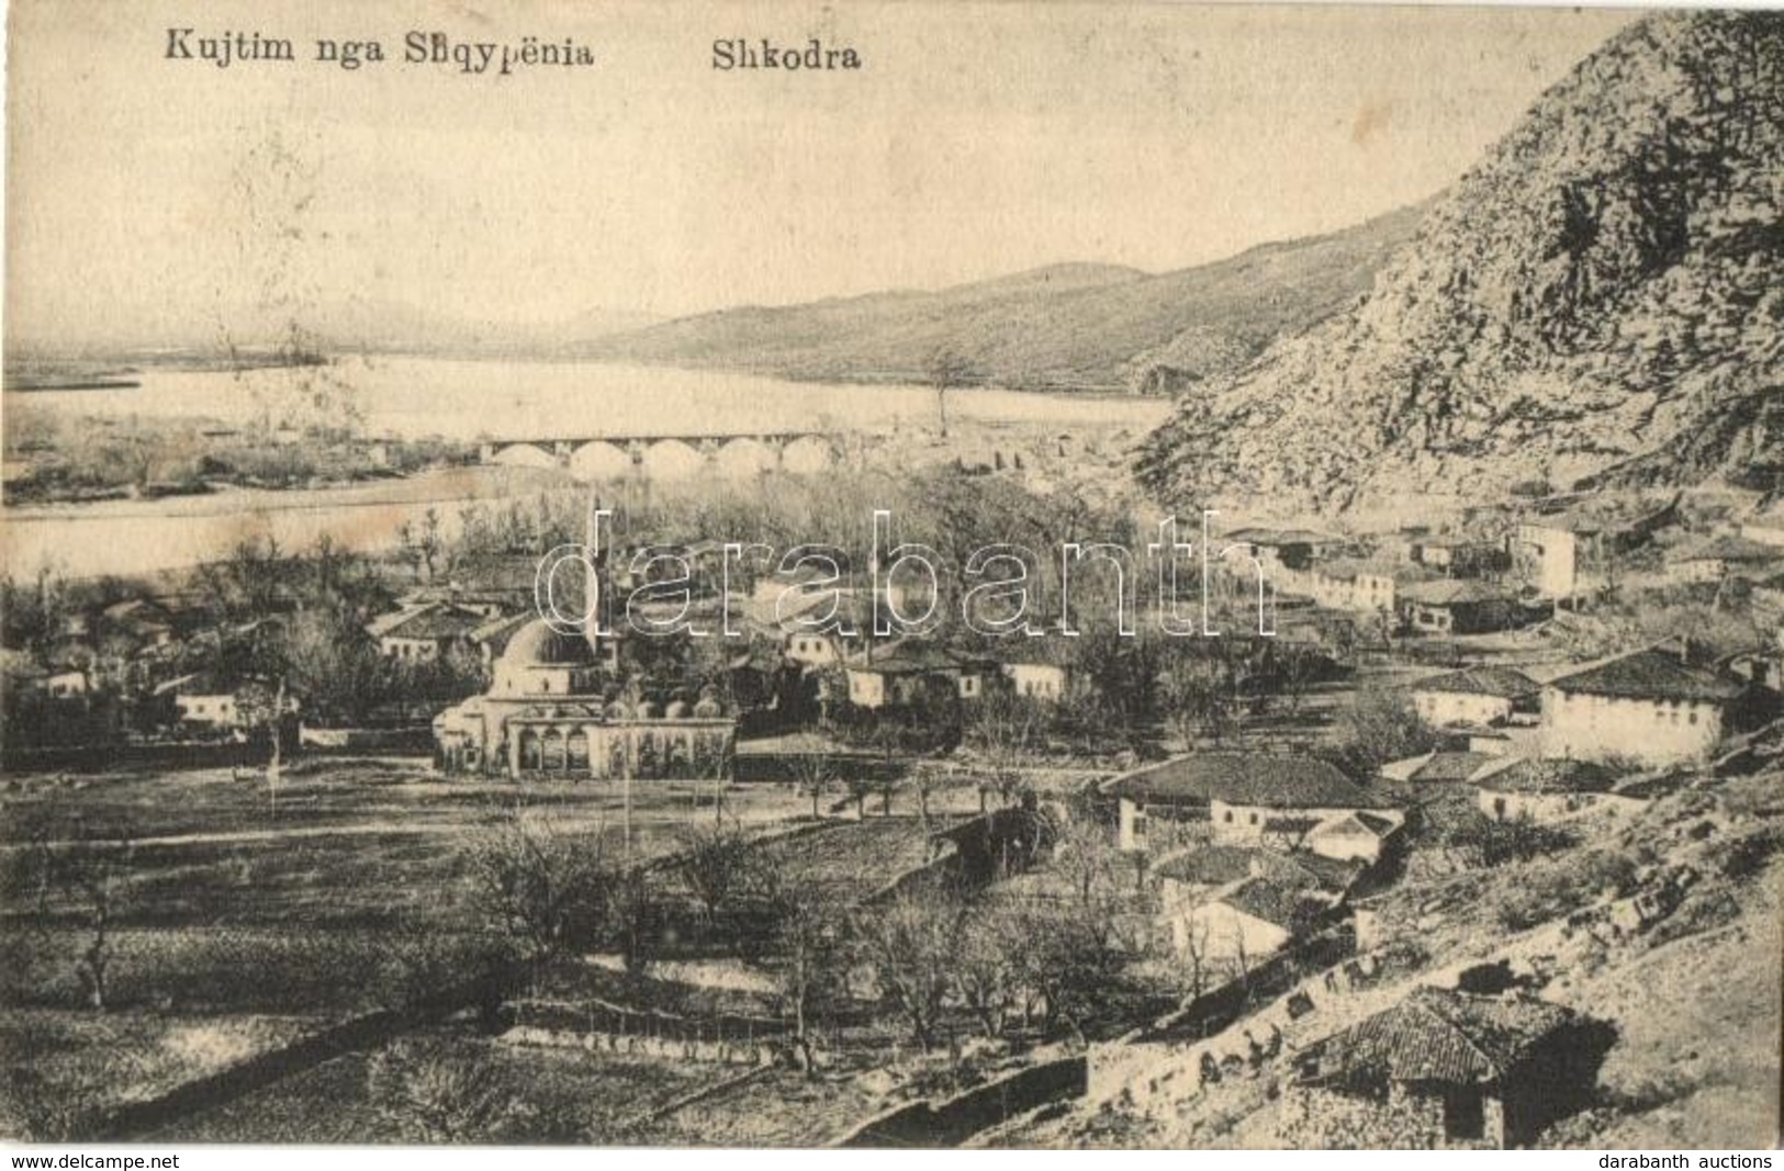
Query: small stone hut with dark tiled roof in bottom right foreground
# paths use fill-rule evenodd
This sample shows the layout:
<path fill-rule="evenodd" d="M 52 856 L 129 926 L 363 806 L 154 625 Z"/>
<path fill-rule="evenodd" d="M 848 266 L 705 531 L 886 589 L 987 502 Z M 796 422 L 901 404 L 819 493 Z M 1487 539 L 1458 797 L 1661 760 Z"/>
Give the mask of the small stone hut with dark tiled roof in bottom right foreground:
<path fill-rule="evenodd" d="M 1295 1055 L 1295 1148 L 1499 1150 L 1588 1103 L 1609 1030 L 1532 996 L 1418 987 Z"/>

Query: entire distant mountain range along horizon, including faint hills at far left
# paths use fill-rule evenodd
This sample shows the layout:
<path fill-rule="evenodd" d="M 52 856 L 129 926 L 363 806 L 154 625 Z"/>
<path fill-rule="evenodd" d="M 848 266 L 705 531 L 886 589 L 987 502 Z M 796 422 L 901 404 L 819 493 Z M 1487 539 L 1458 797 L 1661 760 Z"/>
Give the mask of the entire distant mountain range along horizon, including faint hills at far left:
<path fill-rule="evenodd" d="M 664 321 L 589 310 L 571 319 L 478 323 L 450 308 L 348 296 L 296 319 L 234 315 L 189 335 L 95 339 L 73 356 L 143 360 L 230 353 L 410 353 L 594 360 L 749 371 L 821 381 L 924 381 L 942 364 L 962 383 L 1038 390 L 1179 394 L 1227 374 L 1279 337 L 1350 305 L 1411 237 L 1420 209 L 1227 260 L 1152 274 L 1054 264 L 940 291 L 892 291 L 806 305 L 742 307 Z M 9 339 L 9 356 L 66 355 Z"/>

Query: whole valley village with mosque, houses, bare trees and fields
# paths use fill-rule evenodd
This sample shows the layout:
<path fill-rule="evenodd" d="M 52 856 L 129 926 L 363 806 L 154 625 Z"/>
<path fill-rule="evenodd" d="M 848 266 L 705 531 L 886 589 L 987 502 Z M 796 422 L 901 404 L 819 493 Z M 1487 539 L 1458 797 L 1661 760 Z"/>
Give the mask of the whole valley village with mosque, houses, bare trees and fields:
<path fill-rule="evenodd" d="M 912 528 L 944 549 L 983 535 L 946 528 L 954 499 L 1056 508 L 1013 465 L 944 465 L 935 479 Z M 776 508 L 797 515 L 789 492 L 776 488 Z M 1185 594 L 1142 604 L 1142 629 L 1122 636 L 1108 620 L 1122 576 L 1086 567 L 1070 586 L 1086 629 L 1012 642 L 958 624 L 874 638 L 876 606 L 919 613 L 937 601 L 924 592 L 958 588 L 933 574 L 913 597 L 897 576 L 803 565 L 723 595 L 719 574 L 694 570 L 657 597 L 665 563 L 712 565 L 703 554 L 739 529 L 671 542 L 685 501 L 632 499 L 621 551 L 591 567 L 608 606 L 632 601 L 591 624 L 605 635 L 541 617 L 537 556 L 521 553 L 574 536 L 589 519 L 580 494 L 491 508 L 455 538 L 419 528 L 387 558 L 243 545 L 178 581 L 7 585 L 9 920 L 34 939 L 37 980 L 14 995 L 62 1021 L 71 1068 L 75 1005 L 116 1021 L 145 996 L 177 1002 L 153 987 L 182 962 L 216 962 L 202 959 L 218 929 L 205 907 L 228 880 L 211 872 L 244 868 L 269 886 L 253 879 L 230 920 L 303 934 L 318 955 L 294 964 L 310 1009 L 287 1025 L 296 1039 L 232 1037 L 223 1050 L 241 1064 L 200 1060 L 225 1084 L 289 1060 L 343 1014 L 362 1020 L 368 989 L 330 989 L 309 968 L 425 934 L 428 904 L 455 891 L 458 911 L 441 913 L 457 950 L 435 939 L 405 954 L 400 989 L 380 987 L 378 1011 L 401 1021 L 391 1036 L 312 1069 L 298 1060 L 282 1082 L 357 1100 L 344 1141 L 419 1126 L 368 1105 L 366 1087 L 412 1087 L 444 1066 L 492 1082 L 507 1069 L 508 1089 L 489 1091 L 500 1109 L 434 1103 L 430 1125 L 482 1139 L 571 1126 L 596 1141 L 1110 1141 L 1110 1118 L 1152 1118 L 1160 1101 L 1192 1118 L 1183 1103 L 1220 1100 L 1222 1078 L 1279 1069 L 1267 1078 L 1283 1087 L 1265 1110 L 1276 1130 L 1249 1141 L 1531 1144 L 1604 1109 L 1597 1059 L 1616 1021 L 1536 996 L 1534 961 L 1506 975 L 1491 932 L 1458 945 L 1477 962 L 1449 957 L 1468 979 L 1418 979 L 1433 957 L 1393 927 L 1402 904 L 1483 864 L 1565 864 L 1677 802 L 1730 800 L 1722 784 L 1747 786 L 1739 800 L 1764 815 L 1720 822 L 1741 864 L 1763 870 L 1779 841 L 1775 510 L 1590 495 L 1515 501 L 1441 531 L 1238 526 L 1220 542 L 1247 556 L 1218 563 L 1213 594 L 1227 635 L 1149 636 L 1158 610 L 1201 601 Z M 1115 513 L 1083 512 L 1120 529 Z M 987 513 L 976 522 L 1012 515 Z M 840 501 L 833 522 L 847 558 L 844 533 L 860 529 Z M 723 610 L 747 638 L 637 633 L 653 608 Z M 416 856 L 434 831 L 471 845 L 455 843 L 450 864 Z M 277 873 L 271 857 L 294 848 L 307 863 Z M 173 904 L 164 866 L 187 875 Z M 385 872 L 380 884 L 405 889 L 394 907 L 339 889 L 344 873 Z M 1704 880 L 1702 866 L 1618 866 L 1581 900 L 1609 898 L 1602 914 L 1632 936 Z M 45 891 L 36 913 L 25 889 Z M 291 898 L 296 918 L 275 916 Z M 1497 907 L 1515 934 L 1581 909 Z M 169 959 L 162 939 L 166 970 L 130 973 L 168 930 L 175 957 L 196 955 Z M 391 966 L 380 961 L 380 984 Z M 243 989 L 227 971 L 209 979 L 189 1011 L 241 1016 L 223 1009 Z M 417 1009 L 446 986 L 464 1000 Z M 1388 987 L 1402 998 L 1377 1003 Z M 482 1005 L 475 1025 L 458 1003 Z M 1352 1020 L 1365 1003 L 1377 1016 Z M 1427 1052 L 1486 1057 L 1433 1066 Z M 676 1069 L 662 1112 L 619 1130 L 614 1118 L 521 1121 L 523 1066 L 569 1062 L 553 1077 L 574 1085 L 612 1077 L 615 1055 Z M 166 1071 L 168 1096 L 191 1060 Z M 343 1060 L 364 1087 L 343 1089 Z M 708 1093 L 710 1078 L 687 1080 L 701 1068 L 749 1077 Z M 817 1132 L 715 1121 L 740 1125 L 726 1101 L 772 1080 L 830 1103 Z M 250 1134 L 230 1118 L 252 1118 L 260 1134 L 257 1085 L 196 1121 L 87 1085 L 61 1094 L 80 1110 L 27 1125 L 230 1137 Z M 676 1105 L 681 1091 L 698 1105 Z M 1060 1114 L 1090 1107 L 1088 1123 Z M 446 1121 L 455 1110 L 473 1119 Z M 1058 1130 L 1069 1125 L 1090 1130 Z"/>

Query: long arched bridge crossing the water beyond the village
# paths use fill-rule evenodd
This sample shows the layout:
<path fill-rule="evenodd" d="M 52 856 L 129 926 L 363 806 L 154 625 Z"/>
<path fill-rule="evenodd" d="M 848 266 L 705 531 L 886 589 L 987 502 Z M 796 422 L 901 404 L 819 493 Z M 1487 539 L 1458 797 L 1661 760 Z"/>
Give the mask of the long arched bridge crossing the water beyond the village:
<path fill-rule="evenodd" d="M 485 442 L 480 451 L 483 463 L 560 467 L 589 483 L 821 472 L 844 454 L 842 437 L 828 431 L 503 438 Z"/>

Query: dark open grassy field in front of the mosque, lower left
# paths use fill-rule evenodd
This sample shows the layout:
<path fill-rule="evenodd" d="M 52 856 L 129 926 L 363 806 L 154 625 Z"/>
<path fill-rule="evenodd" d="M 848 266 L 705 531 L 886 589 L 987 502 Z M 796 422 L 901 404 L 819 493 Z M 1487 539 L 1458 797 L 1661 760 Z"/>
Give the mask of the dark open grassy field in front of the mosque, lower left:
<path fill-rule="evenodd" d="M 78 1125 L 78 1116 L 164 1093 L 462 979 L 489 945 L 464 847 L 519 797 L 500 782 L 442 782 L 405 759 L 301 761 L 285 770 L 277 806 L 262 775 L 232 770 L 9 779 L 0 818 L 0 936 L 9 955 L 0 979 L 5 1130 L 54 1135 L 57 1126 Z M 673 852 L 690 827 L 714 818 L 710 784 L 637 784 L 630 804 L 633 861 Z M 965 813 L 976 795 L 940 793 L 937 804 Z M 824 802 L 831 806 L 853 811 L 840 795 Z M 608 857 L 626 852 L 626 795 L 615 784 L 530 784 L 524 807 L 578 848 Z M 810 798 L 790 782 L 733 786 L 723 813 L 769 834 L 764 848 L 799 882 L 855 897 L 926 859 L 924 822 L 913 813 L 896 807 L 894 816 L 810 827 Z M 946 820 L 937 813 L 937 823 Z M 787 832 L 801 825 L 810 829 Z M 45 884 L 39 841 L 54 850 L 78 834 L 111 841 L 120 832 L 130 834 L 130 845 L 105 847 L 114 866 L 105 925 L 111 961 L 107 1011 L 95 1012 L 80 979 L 91 907 Z M 671 875 L 664 882 L 673 888 Z M 628 998 L 626 986 L 596 991 Z M 662 986 L 651 1000 L 671 993 L 698 989 Z M 491 1057 L 482 1064 L 521 1105 L 500 1128 L 491 1123 L 485 1137 L 523 1142 L 644 1142 L 644 1132 L 630 1137 L 628 1126 L 642 1125 L 651 1109 L 699 1089 L 703 1078 L 739 1073 L 678 1068 L 660 1057 L 517 1050 L 455 1027 L 410 1041 L 398 1041 L 380 1068 Z M 189 1119 L 178 1137 L 389 1141 L 394 1116 L 368 1089 L 376 1064 L 368 1053 L 328 1060 Z M 821 1091 L 799 1089 L 812 1093 Z M 316 1128 L 319 1118 L 330 1119 L 325 1130 Z M 739 1118 L 747 1121 L 749 1112 Z M 735 1141 L 815 1141 L 797 1118 L 789 1112 L 769 1128 L 755 1119 Z M 649 1123 L 658 1141 L 724 1141 L 710 1125 L 699 1130 L 705 1137 L 669 1119 Z"/>

